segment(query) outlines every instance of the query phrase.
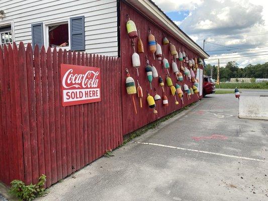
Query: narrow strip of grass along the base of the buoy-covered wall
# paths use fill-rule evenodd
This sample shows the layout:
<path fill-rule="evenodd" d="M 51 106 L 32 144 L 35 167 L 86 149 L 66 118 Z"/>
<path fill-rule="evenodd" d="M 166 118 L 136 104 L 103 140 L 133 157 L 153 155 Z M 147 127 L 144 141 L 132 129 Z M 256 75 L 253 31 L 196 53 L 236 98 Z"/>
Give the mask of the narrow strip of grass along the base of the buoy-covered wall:
<path fill-rule="evenodd" d="M 132 133 L 129 133 L 129 134 L 125 135 L 125 136 L 124 136 L 124 141 L 123 141 L 122 145 L 120 145 L 119 147 L 122 147 L 122 146 L 126 145 L 128 142 L 130 142 L 130 141 L 133 140 L 134 138 L 141 136 L 142 134 L 144 134 L 144 133 L 145 133 L 146 131 L 148 131 L 149 129 L 154 129 L 154 128 L 157 127 L 160 123 L 162 123 L 162 122 L 164 122 L 164 121 L 166 121 L 166 120 L 168 120 L 168 119 L 174 117 L 175 115 L 177 115 L 177 114 L 183 112 L 184 110 L 188 110 L 189 107 L 191 107 L 191 106 L 193 106 L 193 105 L 195 105 L 195 103 L 192 103 L 192 104 L 190 104 L 190 105 L 188 105 L 188 106 L 186 106 L 186 107 L 184 107 L 184 108 L 182 108 L 182 109 L 180 109 L 180 110 L 174 111 L 173 113 L 170 113 L 169 115 L 167 115 L 167 116 L 165 116 L 165 117 L 162 117 L 161 119 L 158 119 L 158 120 L 156 120 L 156 121 L 154 121 L 154 122 L 152 122 L 152 123 L 150 123 L 150 124 L 148 124 L 148 125 L 146 125 L 146 126 L 140 128 L 140 129 L 138 129 L 138 130 L 136 130 L 136 131 L 134 131 L 134 132 L 132 132 Z M 119 147 L 118 147 L 118 148 L 119 148 Z"/>

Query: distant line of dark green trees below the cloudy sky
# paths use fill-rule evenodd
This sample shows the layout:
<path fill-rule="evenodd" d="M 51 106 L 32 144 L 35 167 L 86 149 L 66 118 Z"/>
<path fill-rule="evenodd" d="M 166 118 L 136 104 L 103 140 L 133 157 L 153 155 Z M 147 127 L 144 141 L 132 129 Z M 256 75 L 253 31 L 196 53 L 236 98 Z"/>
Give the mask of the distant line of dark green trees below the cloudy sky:
<path fill-rule="evenodd" d="M 217 66 L 207 64 L 204 69 L 204 74 L 217 79 Z M 230 78 L 268 78 L 268 62 L 256 65 L 247 65 L 244 68 L 239 68 L 238 63 L 229 61 L 225 67 L 220 67 L 220 81 L 227 81 Z"/>

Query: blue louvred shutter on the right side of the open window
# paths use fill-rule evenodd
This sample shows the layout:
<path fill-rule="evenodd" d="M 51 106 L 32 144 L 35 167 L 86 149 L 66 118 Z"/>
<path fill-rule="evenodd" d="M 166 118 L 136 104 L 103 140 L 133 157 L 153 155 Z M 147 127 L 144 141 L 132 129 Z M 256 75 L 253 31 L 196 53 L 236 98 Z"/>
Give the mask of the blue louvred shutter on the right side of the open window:
<path fill-rule="evenodd" d="M 70 18 L 71 50 L 85 50 L 84 45 L 84 16 Z"/>

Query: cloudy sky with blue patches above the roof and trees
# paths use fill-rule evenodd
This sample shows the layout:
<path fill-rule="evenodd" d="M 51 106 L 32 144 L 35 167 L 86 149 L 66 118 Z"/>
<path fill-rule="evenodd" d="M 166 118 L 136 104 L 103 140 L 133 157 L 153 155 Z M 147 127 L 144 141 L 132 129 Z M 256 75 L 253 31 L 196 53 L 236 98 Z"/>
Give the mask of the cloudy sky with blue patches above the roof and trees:
<path fill-rule="evenodd" d="M 268 62 L 267 0 L 153 1 L 198 45 L 207 41 L 207 64 L 217 64 L 218 58 L 220 66 Z"/>

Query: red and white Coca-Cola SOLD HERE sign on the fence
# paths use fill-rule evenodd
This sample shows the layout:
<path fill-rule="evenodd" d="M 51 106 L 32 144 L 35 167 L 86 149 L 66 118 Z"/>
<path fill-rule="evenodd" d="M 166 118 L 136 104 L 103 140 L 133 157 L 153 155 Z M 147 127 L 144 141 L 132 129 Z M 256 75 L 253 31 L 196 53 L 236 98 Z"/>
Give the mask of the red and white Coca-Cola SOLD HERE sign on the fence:
<path fill-rule="evenodd" d="M 97 67 L 61 64 L 62 106 L 101 101 L 101 71 Z"/>

